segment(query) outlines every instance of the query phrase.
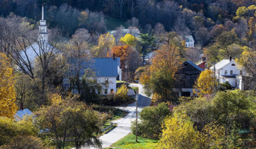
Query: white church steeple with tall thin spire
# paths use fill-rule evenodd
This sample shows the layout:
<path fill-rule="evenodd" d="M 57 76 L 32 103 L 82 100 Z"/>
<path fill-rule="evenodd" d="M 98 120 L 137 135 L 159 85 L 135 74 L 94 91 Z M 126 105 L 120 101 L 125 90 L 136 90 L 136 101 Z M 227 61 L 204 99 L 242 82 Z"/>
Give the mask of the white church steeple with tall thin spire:
<path fill-rule="evenodd" d="M 46 21 L 44 20 L 44 4 L 45 3 L 42 3 L 42 20 L 40 20 L 40 25 L 39 25 L 39 41 L 47 43 L 48 33 L 47 33 Z"/>

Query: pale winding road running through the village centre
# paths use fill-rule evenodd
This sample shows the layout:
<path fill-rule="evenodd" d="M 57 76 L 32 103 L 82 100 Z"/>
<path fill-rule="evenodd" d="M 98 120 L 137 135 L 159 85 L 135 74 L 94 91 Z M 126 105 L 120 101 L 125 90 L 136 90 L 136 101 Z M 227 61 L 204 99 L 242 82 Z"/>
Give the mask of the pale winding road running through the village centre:
<path fill-rule="evenodd" d="M 150 105 L 151 99 L 148 98 L 143 93 L 142 85 L 131 84 L 130 86 L 139 87 L 138 112 L 141 112 L 143 107 L 147 107 Z M 134 121 L 136 119 L 136 103 L 129 104 L 127 105 L 127 107 L 119 107 L 119 108 L 127 110 L 129 114 L 124 118 L 113 121 L 113 123 L 117 123 L 117 127 L 100 137 L 100 140 L 103 142 L 103 145 L 102 145 L 103 148 L 110 147 L 113 143 L 117 142 L 118 140 L 120 140 L 121 138 L 127 136 L 129 133 L 132 132 L 130 127 L 131 127 L 131 121 Z M 89 148 L 95 149 L 94 147 L 89 147 Z"/>

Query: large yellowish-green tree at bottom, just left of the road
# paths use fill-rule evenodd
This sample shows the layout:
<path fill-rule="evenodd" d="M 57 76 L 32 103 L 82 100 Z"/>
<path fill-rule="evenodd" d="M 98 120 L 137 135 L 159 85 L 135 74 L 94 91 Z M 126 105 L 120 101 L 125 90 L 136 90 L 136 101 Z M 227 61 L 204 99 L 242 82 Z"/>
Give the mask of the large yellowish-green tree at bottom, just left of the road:
<path fill-rule="evenodd" d="M 63 99 L 53 94 L 51 104 L 36 113 L 37 124 L 44 130 L 49 129 L 45 135 L 54 139 L 57 148 L 64 148 L 67 139 L 72 139 L 78 148 L 90 144 L 100 147 L 95 135 L 100 133 L 104 118 L 76 100 L 77 96 Z"/>

